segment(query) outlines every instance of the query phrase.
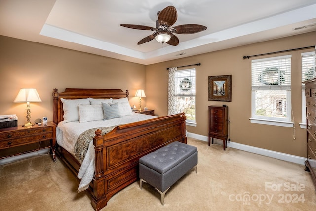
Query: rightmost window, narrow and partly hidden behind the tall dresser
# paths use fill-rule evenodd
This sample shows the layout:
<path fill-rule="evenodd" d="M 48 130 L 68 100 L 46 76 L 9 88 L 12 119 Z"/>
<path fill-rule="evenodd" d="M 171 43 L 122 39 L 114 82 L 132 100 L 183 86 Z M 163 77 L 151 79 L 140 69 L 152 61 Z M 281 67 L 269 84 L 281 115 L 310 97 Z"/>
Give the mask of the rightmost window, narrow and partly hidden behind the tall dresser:
<path fill-rule="evenodd" d="M 315 52 L 302 53 L 302 81 L 314 78 Z M 303 126 L 304 125 L 304 126 Z M 305 84 L 302 84 L 302 128 L 306 128 Z"/>

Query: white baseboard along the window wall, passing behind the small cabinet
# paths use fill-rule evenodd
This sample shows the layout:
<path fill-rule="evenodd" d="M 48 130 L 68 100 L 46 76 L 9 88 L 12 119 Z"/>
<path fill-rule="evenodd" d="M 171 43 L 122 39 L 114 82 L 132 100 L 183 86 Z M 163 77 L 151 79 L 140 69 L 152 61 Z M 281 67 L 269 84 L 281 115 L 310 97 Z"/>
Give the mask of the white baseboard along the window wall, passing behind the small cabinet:
<path fill-rule="evenodd" d="M 201 141 L 208 142 L 208 136 L 198 135 L 198 134 L 191 133 L 191 132 L 188 132 L 187 136 L 190 138 L 195 138 L 195 139 L 198 139 Z M 214 143 L 223 146 L 223 140 L 214 138 Z M 227 147 L 232 147 L 235 149 L 239 149 L 239 150 L 243 150 L 243 151 L 247 151 L 247 152 L 252 152 L 252 153 L 259 154 L 259 155 L 264 155 L 264 156 L 268 156 L 271 158 L 276 158 L 276 159 L 283 160 L 283 161 L 289 161 L 289 162 L 301 164 L 301 165 L 305 165 L 304 162 L 306 161 L 306 158 L 304 158 L 304 157 L 290 155 L 290 154 L 281 153 L 281 152 L 276 152 L 276 151 L 267 150 L 267 149 L 263 149 L 263 148 L 259 148 L 259 147 L 253 147 L 253 146 L 249 146 L 249 145 L 245 145 L 245 144 L 239 144 L 239 143 L 235 143 L 232 141 L 227 141 Z"/>

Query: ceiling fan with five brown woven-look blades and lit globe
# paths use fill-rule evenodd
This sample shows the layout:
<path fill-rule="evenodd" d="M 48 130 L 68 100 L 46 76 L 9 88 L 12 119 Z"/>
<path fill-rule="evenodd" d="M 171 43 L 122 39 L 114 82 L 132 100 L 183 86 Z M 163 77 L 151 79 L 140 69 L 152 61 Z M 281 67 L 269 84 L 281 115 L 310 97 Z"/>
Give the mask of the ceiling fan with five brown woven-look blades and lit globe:
<path fill-rule="evenodd" d="M 156 28 L 136 24 L 120 24 L 120 26 L 154 31 L 152 35 L 143 38 L 137 44 L 144 44 L 145 42 L 149 42 L 155 38 L 158 42 L 161 42 L 162 45 L 166 42 L 167 44 L 173 46 L 177 46 L 179 44 L 179 39 L 174 34 L 193 34 L 207 29 L 206 26 L 198 24 L 184 24 L 171 27 L 177 21 L 178 16 L 177 10 L 174 6 L 167 6 L 163 10 L 159 11 L 157 15 L 158 20 L 156 20 Z"/>

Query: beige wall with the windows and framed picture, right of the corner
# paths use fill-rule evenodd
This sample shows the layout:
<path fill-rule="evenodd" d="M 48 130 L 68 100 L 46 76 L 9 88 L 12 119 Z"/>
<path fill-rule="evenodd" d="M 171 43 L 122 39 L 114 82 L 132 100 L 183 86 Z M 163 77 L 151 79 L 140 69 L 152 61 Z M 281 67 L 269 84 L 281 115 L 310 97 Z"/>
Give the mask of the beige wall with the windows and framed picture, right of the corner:
<path fill-rule="evenodd" d="M 292 55 L 292 109 L 296 140 L 293 140 L 294 129 L 291 127 L 250 123 L 251 59 L 244 60 L 243 56 L 313 46 L 316 44 L 315 38 L 316 32 L 312 32 L 148 65 L 147 107 L 155 108 L 155 113 L 158 115 L 167 114 L 168 71 L 166 68 L 201 63 L 201 66 L 196 67 L 197 127 L 187 126 L 189 132 L 207 136 L 208 106 L 226 104 L 229 107 L 231 141 L 305 157 L 306 131 L 299 126 L 302 116 L 301 53 L 313 49 L 272 55 Z M 263 57 L 255 57 L 258 58 Z M 232 102 L 208 101 L 208 76 L 218 75 L 232 75 Z"/>

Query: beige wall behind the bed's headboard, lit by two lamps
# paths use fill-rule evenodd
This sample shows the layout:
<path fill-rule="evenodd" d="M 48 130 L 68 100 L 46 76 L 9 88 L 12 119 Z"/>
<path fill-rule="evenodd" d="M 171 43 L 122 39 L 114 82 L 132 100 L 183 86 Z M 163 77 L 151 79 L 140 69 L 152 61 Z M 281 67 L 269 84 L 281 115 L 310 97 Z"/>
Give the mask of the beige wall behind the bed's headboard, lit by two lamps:
<path fill-rule="evenodd" d="M 0 36 L 0 115 L 16 114 L 26 123 L 26 103 L 13 103 L 20 88 L 36 88 L 42 102 L 31 103 L 31 122 L 52 121 L 52 92 L 65 88 L 146 90 L 146 66 L 60 47 Z M 142 99 L 146 106 L 146 98 Z"/>

